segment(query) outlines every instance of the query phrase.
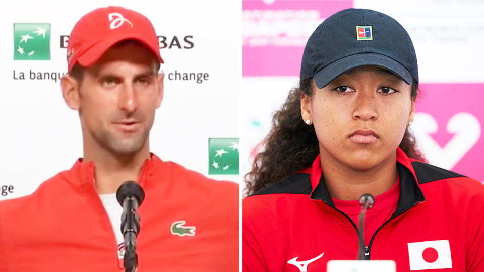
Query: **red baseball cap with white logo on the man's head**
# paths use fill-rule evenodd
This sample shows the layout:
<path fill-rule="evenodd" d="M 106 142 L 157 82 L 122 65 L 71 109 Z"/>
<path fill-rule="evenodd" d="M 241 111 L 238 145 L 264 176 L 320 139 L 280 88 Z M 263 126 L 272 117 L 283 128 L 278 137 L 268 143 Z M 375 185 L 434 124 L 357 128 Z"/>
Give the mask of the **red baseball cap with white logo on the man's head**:
<path fill-rule="evenodd" d="M 144 15 L 123 7 L 91 11 L 79 19 L 71 31 L 67 46 L 68 72 L 76 63 L 91 66 L 109 47 L 129 39 L 144 44 L 163 63 L 158 36 Z"/>

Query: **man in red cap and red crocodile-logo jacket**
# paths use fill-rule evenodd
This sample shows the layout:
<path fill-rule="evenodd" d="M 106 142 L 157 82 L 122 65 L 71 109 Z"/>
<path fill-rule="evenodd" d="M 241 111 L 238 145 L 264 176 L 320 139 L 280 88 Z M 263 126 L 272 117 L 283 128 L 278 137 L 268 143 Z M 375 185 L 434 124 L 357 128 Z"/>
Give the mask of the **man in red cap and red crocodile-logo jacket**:
<path fill-rule="evenodd" d="M 115 192 L 145 191 L 137 237 L 140 271 L 238 270 L 238 185 L 150 153 L 163 98 L 163 60 L 151 22 L 120 7 L 74 26 L 62 79 L 79 112 L 83 158 L 31 195 L 0 202 L 0 271 L 122 271 L 122 207 Z"/>

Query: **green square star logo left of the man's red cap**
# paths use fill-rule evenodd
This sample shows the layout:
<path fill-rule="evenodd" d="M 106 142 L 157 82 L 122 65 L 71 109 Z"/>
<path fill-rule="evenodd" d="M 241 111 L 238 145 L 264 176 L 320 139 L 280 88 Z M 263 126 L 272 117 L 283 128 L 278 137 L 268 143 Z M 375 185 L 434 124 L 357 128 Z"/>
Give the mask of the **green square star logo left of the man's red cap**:
<path fill-rule="evenodd" d="M 15 60 L 50 60 L 50 24 L 14 24 Z"/>

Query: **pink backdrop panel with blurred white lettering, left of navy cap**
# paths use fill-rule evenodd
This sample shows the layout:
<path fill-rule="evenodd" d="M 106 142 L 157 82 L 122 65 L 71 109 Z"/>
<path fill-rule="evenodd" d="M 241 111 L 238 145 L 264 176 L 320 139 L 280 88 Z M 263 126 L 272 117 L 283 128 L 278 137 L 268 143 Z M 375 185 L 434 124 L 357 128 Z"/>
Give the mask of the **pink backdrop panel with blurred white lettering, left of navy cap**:
<path fill-rule="evenodd" d="M 337 11 L 353 7 L 353 1 L 243 1 L 242 76 L 299 75 L 302 52 L 319 23 Z M 247 12 L 252 11 L 252 12 Z"/>

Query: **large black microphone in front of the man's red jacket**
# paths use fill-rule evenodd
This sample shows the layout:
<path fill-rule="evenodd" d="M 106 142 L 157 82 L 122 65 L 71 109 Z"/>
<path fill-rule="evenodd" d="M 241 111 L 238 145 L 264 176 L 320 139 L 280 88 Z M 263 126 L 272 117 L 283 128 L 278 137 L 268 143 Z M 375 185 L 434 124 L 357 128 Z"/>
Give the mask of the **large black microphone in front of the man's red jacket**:
<path fill-rule="evenodd" d="M 134 272 L 138 269 L 138 255 L 136 254 L 136 237 L 140 232 L 138 207 L 140 207 L 144 198 L 143 189 L 134 181 L 126 181 L 116 191 L 117 202 L 123 206 L 121 232 L 125 238 L 124 264 L 126 272 Z"/>

